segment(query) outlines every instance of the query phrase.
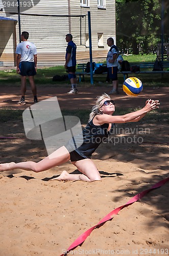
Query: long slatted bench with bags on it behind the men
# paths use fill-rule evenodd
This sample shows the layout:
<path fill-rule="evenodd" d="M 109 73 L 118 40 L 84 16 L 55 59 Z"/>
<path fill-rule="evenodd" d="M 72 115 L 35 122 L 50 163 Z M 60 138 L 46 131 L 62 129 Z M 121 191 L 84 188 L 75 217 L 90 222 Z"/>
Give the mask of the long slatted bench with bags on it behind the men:
<path fill-rule="evenodd" d="M 99 65 L 99 63 L 98 63 Z M 100 63 L 100 65 L 106 66 L 106 64 Z M 131 71 L 119 71 L 118 74 L 123 74 L 124 80 L 128 77 L 129 74 L 165 74 L 169 73 L 169 61 L 163 62 L 163 70 L 153 71 L 154 63 L 153 62 L 130 62 L 130 67 L 139 66 L 140 71 L 131 72 Z M 90 75 L 90 72 L 85 72 L 86 63 L 79 63 L 76 67 L 76 75 L 79 76 L 79 82 L 85 81 L 85 75 Z M 151 69 L 151 70 L 150 70 Z M 80 70 L 80 71 L 77 71 Z M 93 72 L 93 74 L 95 74 Z M 102 74 L 107 74 L 104 72 Z"/>

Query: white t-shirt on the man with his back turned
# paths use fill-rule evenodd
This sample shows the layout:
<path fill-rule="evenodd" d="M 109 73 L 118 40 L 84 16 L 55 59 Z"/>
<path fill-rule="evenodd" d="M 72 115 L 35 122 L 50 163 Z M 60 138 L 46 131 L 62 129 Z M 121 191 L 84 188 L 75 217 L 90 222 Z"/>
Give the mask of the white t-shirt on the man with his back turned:
<path fill-rule="evenodd" d="M 34 62 L 34 55 L 37 54 L 36 46 L 30 41 L 20 42 L 16 47 L 16 54 L 21 55 L 20 62 Z"/>

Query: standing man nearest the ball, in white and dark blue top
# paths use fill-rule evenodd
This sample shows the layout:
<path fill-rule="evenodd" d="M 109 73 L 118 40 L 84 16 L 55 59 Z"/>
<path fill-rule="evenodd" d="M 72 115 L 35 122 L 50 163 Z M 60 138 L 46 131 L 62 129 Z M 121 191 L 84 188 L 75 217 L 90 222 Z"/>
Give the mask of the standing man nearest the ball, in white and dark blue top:
<path fill-rule="evenodd" d="M 108 53 L 107 53 L 107 68 L 108 68 L 108 74 L 109 78 L 112 80 L 112 90 L 109 92 L 109 94 L 119 94 L 118 91 L 118 55 L 119 51 L 117 46 L 114 45 L 114 39 L 112 37 L 109 37 L 107 39 L 107 45 L 110 47 Z"/>

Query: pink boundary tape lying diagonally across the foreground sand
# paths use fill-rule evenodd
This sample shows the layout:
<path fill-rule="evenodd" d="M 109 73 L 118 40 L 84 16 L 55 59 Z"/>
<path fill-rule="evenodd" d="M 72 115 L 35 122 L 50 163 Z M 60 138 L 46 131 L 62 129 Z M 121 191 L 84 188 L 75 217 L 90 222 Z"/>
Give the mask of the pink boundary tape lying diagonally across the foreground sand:
<path fill-rule="evenodd" d="M 117 215 L 118 212 L 120 210 L 122 210 L 123 208 L 133 204 L 134 202 L 138 201 L 139 199 L 143 198 L 147 193 L 149 193 L 149 191 L 161 187 L 162 185 L 164 185 L 167 181 L 169 181 L 169 178 L 163 179 L 159 182 L 157 182 L 156 184 L 154 184 L 151 188 L 146 189 L 144 191 L 142 191 L 141 193 L 137 194 L 136 196 L 132 197 L 126 204 L 112 210 L 111 212 L 109 212 L 109 214 L 107 214 L 101 221 L 99 221 L 99 223 L 93 227 L 91 227 L 90 229 L 88 229 L 87 231 L 85 231 L 84 233 L 82 233 L 70 246 L 69 248 L 66 250 L 65 254 L 61 254 L 60 256 L 65 256 L 67 255 L 67 253 L 73 249 L 75 249 L 77 246 L 81 245 L 86 239 L 87 237 L 90 236 L 91 232 L 93 231 L 93 229 L 95 228 L 99 228 L 101 227 L 106 221 L 110 221 L 113 218 L 113 215 Z"/>

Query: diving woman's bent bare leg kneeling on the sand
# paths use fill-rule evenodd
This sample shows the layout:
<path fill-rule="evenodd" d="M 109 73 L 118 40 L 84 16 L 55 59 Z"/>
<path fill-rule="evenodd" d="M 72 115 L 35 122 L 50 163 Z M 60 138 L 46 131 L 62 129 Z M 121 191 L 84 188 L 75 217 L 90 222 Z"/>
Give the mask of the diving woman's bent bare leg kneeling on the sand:
<path fill-rule="evenodd" d="M 64 170 L 59 177 L 52 180 L 82 180 L 88 182 L 101 180 L 98 169 L 91 159 L 83 159 L 72 163 L 82 174 L 68 174 Z"/>

